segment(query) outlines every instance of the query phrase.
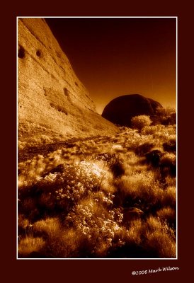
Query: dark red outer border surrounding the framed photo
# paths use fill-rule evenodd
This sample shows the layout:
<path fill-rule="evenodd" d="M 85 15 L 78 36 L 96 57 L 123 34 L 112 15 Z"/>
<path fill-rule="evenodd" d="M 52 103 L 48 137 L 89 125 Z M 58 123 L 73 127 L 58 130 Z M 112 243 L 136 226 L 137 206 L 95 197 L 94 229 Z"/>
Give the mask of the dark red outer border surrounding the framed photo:
<path fill-rule="evenodd" d="M 70 1 L 69 1 L 70 2 Z M 19 282 L 181 282 L 192 276 L 193 218 L 193 54 L 192 12 L 186 4 L 164 1 L 121 1 L 103 5 L 90 1 L 16 1 L 6 4 L 1 16 L 1 142 L 4 174 L 1 175 L 1 260 L 6 281 Z M 71 6 L 69 6 L 71 5 Z M 16 16 L 178 16 L 178 260 L 16 260 Z M 4 67 L 2 67 L 4 66 Z M 190 133 L 190 134 L 188 134 Z M 187 152 L 188 149 L 188 152 Z M 191 164 L 189 164 L 191 162 Z M 173 272 L 132 276 L 133 270 L 179 267 Z"/>

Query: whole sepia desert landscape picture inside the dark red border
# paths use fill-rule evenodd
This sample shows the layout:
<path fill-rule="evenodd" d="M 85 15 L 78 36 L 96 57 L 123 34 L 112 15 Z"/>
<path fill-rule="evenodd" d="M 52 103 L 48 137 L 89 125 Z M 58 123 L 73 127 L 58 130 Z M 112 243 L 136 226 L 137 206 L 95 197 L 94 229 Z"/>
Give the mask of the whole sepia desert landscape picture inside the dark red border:
<path fill-rule="evenodd" d="M 177 16 L 16 21 L 17 260 L 178 259 Z"/>

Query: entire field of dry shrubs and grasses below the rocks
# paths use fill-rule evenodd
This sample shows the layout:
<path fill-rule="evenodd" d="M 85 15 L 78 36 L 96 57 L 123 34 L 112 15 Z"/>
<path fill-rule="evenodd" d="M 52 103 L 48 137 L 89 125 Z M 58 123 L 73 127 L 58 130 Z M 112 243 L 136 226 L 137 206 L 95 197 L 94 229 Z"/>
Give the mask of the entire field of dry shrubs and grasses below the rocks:
<path fill-rule="evenodd" d="M 176 125 L 18 163 L 19 258 L 176 258 Z"/>

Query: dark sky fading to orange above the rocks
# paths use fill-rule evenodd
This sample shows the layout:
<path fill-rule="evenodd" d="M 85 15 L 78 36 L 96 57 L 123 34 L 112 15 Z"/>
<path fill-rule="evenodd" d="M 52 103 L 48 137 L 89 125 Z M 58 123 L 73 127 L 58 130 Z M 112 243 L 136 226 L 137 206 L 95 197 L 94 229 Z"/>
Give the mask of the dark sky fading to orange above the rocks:
<path fill-rule="evenodd" d="M 176 108 L 176 18 L 45 18 L 99 114 L 141 94 Z"/>

